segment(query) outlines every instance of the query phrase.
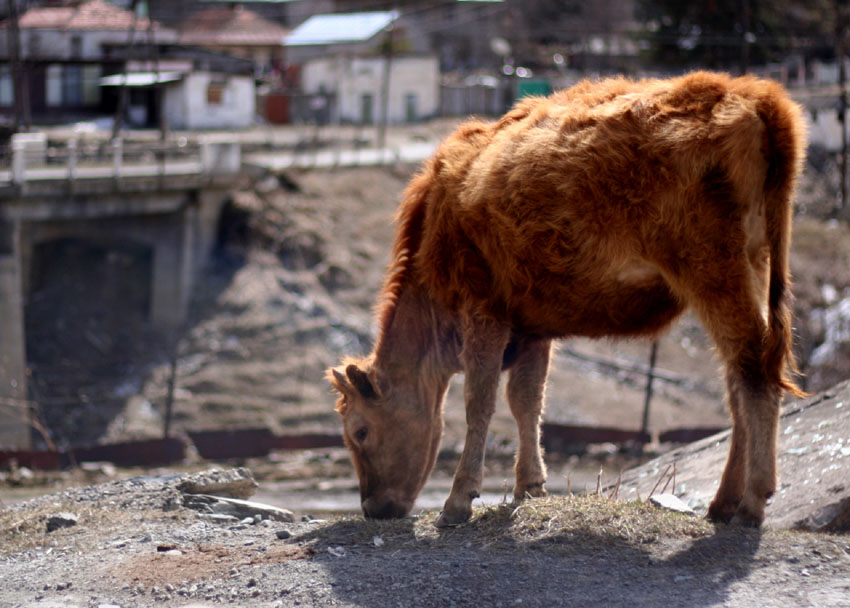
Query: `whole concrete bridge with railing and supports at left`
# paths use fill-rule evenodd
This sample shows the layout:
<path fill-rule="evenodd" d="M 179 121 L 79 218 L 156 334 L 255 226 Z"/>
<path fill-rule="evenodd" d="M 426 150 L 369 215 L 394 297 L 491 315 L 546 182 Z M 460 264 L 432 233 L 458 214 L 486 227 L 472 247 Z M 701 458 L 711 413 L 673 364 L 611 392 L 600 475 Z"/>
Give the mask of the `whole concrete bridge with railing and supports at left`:
<path fill-rule="evenodd" d="M 232 139 L 159 149 L 118 142 L 94 156 L 72 144 L 58 160 L 44 143 L 22 134 L 0 167 L 0 449 L 30 446 L 24 305 L 38 248 L 77 239 L 146 251 L 148 317 L 169 335 L 186 318 L 193 278 L 243 174 Z"/>

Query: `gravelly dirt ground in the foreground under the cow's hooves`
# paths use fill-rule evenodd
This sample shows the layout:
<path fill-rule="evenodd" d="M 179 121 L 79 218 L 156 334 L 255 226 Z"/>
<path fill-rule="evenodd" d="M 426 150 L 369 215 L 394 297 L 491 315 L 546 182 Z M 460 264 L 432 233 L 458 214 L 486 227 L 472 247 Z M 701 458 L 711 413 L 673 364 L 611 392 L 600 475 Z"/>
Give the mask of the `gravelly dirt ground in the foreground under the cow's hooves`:
<path fill-rule="evenodd" d="M 179 476 L 0 514 L 0 605 L 850 606 L 850 539 L 709 526 L 603 498 L 286 523 L 183 506 Z M 46 531 L 58 512 L 75 525 Z"/>

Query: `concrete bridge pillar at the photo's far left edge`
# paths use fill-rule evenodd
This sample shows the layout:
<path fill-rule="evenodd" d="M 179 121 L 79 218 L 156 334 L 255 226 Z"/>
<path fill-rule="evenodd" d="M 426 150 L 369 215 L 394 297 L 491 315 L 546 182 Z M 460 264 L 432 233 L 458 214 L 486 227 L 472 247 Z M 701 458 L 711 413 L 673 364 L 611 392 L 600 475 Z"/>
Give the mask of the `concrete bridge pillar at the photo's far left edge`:
<path fill-rule="evenodd" d="M 31 446 L 17 242 L 17 225 L 0 220 L 0 449 Z"/>

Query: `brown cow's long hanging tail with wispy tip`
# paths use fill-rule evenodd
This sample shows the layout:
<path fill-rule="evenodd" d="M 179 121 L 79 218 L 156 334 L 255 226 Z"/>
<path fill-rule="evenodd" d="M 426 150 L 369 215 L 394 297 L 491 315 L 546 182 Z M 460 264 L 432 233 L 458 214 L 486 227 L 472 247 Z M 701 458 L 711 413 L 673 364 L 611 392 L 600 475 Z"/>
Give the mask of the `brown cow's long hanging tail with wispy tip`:
<path fill-rule="evenodd" d="M 762 81 L 764 82 L 764 81 Z M 789 374 L 797 374 L 792 350 L 791 280 L 788 253 L 794 213 L 794 191 L 805 161 L 805 121 L 797 104 L 775 83 L 765 83 L 767 94 L 759 104 L 765 122 L 765 217 L 770 247 L 768 328 L 762 364 L 767 381 L 797 397 L 805 392 Z"/>

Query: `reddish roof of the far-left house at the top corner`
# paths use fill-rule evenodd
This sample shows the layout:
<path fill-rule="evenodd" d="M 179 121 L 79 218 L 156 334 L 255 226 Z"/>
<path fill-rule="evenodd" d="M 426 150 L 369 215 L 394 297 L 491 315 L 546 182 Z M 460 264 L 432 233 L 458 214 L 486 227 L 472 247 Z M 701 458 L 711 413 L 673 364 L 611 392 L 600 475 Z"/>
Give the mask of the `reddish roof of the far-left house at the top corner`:
<path fill-rule="evenodd" d="M 128 30 L 132 23 L 132 11 L 103 0 L 31 8 L 18 19 L 21 28 L 49 30 Z M 136 18 L 136 29 L 147 29 L 149 24 L 146 17 Z M 156 21 L 153 28 L 163 29 Z"/>

